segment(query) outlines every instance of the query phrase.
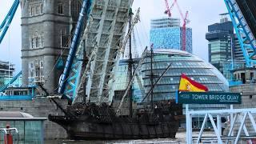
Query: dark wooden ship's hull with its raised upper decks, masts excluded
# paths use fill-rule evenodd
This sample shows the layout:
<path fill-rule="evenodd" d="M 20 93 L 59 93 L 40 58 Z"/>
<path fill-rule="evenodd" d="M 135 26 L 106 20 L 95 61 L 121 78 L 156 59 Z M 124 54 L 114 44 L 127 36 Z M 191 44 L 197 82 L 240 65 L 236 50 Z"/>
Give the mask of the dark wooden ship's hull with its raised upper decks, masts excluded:
<path fill-rule="evenodd" d="M 49 115 L 49 120 L 64 127 L 71 139 L 175 138 L 179 122 L 173 110 L 182 107 L 137 111 L 129 118 L 104 106 L 70 106 L 67 111 L 75 117 Z"/>

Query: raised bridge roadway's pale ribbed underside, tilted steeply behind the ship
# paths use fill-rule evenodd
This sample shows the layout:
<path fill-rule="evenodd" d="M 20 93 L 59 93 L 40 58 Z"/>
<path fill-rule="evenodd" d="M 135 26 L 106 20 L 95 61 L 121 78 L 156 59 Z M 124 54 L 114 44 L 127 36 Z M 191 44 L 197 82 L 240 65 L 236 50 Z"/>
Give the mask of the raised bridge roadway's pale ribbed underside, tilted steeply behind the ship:
<path fill-rule="evenodd" d="M 81 13 L 86 14 L 86 28 L 82 31 L 74 60 L 70 61 L 70 72 L 66 77 L 62 76 L 59 91 L 73 102 L 81 102 L 84 98 L 82 91 L 85 90 L 87 102 L 110 103 L 114 96 L 115 66 L 118 66 L 118 55 L 126 45 L 126 29 L 133 0 L 90 2 L 87 13 Z M 138 14 L 136 16 L 133 26 L 138 22 Z"/>

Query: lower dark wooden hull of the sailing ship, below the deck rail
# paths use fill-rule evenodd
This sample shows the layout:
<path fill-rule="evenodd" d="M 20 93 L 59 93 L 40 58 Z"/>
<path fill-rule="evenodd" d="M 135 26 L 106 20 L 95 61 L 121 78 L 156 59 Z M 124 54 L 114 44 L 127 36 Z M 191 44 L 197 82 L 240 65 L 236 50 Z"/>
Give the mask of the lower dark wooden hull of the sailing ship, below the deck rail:
<path fill-rule="evenodd" d="M 57 122 L 66 129 L 70 139 L 147 139 L 147 138 L 175 138 L 178 122 L 64 122 L 62 117 L 50 116 L 49 119 Z M 59 120 L 58 120 L 59 119 Z M 64 118 L 65 119 L 65 118 Z"/>

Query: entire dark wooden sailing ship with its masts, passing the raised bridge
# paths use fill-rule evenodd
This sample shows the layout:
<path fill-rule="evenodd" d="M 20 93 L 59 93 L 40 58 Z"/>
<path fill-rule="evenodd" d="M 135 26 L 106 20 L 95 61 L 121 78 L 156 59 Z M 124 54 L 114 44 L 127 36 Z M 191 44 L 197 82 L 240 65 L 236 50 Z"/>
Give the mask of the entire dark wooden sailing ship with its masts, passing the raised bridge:
<path fill-rule="evenodd" d="M 65 115 L 49 115 L 49 120 L 62 126 L 71 139 L 138 139 L 138 138 L 175 138 L 179 127 L 179 119 L 182 118 L 182 105 L 174 100 L 154 101 L 154 86 L 160 78 L 170 69 L 162 73 L 157 82 L 153 82 L 153 57 L 151 51 L 145 54 L 151 56 L 151 90 L 143 96 L 144 101 L 150 96 L 150 102 L 144 106 L 136 106 L 131 95 L 131 83 L 134 75 L 129 73 L 130 82 L 127 89 L 122 91 L 122 98 L 118 102 L 86 102 L 85 95 L 82 102 L 77 102 L 62 109 L 58 102 L 53 101 L 62 109 Z M 132 58 L 129 60 L 131 66 Z M 140 67 L 140 62 L 137 67 Z M 134 70 L 134 73 L 138 68 Z M 128 98 L 126 98 L 129 96 Z M 115 99 L 114 99 L 115 100 Z M 124 102 L 126 101 L 126 102 Z M 126 105 L 123 106 L 122 105 Z"/>

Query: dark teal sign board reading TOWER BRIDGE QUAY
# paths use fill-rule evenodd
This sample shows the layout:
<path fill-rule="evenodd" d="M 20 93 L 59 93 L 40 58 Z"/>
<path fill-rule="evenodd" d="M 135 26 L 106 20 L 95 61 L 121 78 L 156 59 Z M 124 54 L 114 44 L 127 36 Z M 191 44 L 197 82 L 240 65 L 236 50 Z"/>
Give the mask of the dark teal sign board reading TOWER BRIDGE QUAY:
<path fill-rule="evenodd" d="M 240 93 L 185 92 L 176 93 L 176 103 L 184 104 L 241 104 Z"/>

